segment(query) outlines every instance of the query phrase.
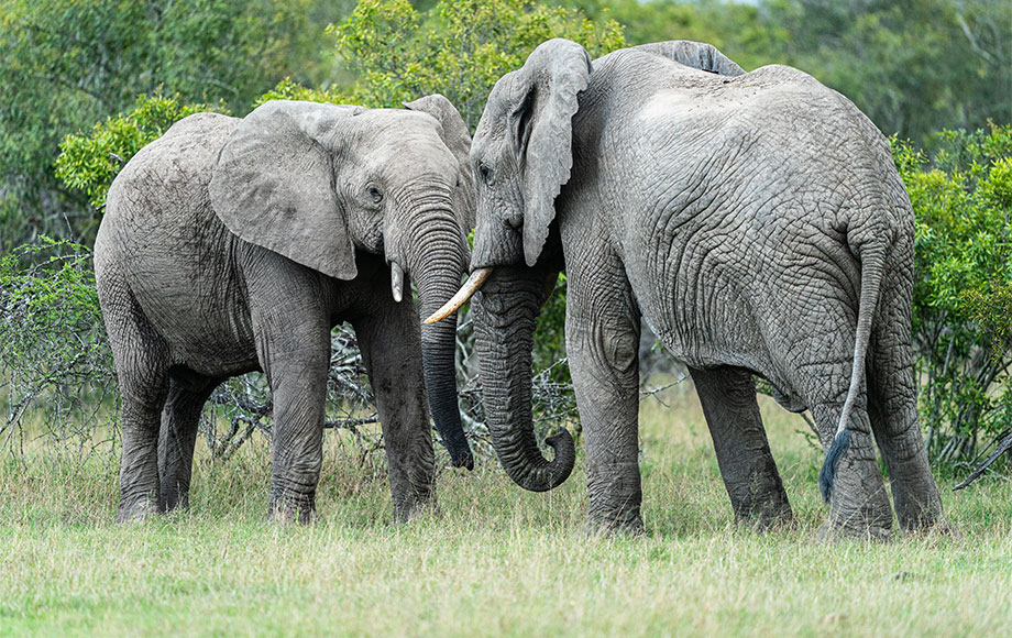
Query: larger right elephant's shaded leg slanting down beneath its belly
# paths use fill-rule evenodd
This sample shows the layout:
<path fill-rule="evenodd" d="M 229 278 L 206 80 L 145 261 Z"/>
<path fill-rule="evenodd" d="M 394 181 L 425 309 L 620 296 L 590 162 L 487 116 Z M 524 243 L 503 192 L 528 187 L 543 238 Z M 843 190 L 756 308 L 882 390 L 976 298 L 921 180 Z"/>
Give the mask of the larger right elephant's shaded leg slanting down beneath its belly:
<path fill-rule="evenodd" d="M 735 518 L 768 528 L 792 519 L 770 452 L 751 373 L 740 367 L 690 369 Z"/>

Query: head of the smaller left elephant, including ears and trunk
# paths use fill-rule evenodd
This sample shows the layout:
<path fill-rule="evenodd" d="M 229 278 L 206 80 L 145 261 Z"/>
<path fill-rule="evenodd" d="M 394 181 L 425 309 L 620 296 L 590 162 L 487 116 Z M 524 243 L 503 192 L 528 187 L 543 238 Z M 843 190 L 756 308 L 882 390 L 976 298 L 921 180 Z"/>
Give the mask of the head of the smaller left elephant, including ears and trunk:
<path fill-rule="evenodd" d="M 468 264 L 471 140 L 444 97 L 406 106 L 266 102 L 222 148 L 211 206 L 242 240 L 330 277 L 353 279 L 358 251 L 384 255 L 395 300 L 410 275 L 420 312 L 431 314 Z M 453 465 L 472 468 L 457 403 L 455 326 L 426 326 L 421 340 L 436 427 Z"/>

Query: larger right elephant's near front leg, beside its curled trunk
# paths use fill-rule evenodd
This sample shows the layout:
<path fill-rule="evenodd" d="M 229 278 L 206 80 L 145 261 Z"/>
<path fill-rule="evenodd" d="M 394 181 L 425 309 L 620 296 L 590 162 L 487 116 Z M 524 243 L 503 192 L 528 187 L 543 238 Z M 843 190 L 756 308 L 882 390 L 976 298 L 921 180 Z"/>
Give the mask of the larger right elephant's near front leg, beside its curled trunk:
<path fill-rule="evenodd" d="M 639 317 L 625 282 L 570 271 L 565 336 L 587 457 L 587 526 L 641 534 Z M 607 279 L 607 277 L 601 277 Z M 607 285 L 605 283 L 604 285 Z"/>

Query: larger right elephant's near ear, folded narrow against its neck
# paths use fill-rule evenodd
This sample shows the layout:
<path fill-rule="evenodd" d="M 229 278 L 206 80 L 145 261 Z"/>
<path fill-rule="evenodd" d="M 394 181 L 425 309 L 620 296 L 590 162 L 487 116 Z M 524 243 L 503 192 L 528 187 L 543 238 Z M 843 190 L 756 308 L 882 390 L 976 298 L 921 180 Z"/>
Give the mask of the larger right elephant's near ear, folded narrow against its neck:
<path fill-rule="evenodd" d="M 517 74 L 519 99 L 507 113 L 507 135 L 520 166 L 524 258 L 534 266 L 556 217 L 556 196 L 573 167 L 573 116 L 592 72 L 591 56 L 569 40 L 549 40 Z"/>

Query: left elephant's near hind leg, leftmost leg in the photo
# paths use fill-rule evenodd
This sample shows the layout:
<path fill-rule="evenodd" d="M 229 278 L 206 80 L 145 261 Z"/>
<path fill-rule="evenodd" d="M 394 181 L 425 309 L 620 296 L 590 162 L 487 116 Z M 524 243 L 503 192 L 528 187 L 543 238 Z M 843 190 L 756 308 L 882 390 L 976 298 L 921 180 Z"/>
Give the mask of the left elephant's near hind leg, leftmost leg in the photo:
<path fill-rule="evenodd" d="M 123 452 L 116 518 L 143 519 L 161 510 L 157 448 L 168 394 L 168 346 L 124 283 L 106 276 L 98 288 L 122 399 Z"/>

